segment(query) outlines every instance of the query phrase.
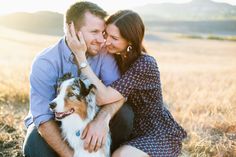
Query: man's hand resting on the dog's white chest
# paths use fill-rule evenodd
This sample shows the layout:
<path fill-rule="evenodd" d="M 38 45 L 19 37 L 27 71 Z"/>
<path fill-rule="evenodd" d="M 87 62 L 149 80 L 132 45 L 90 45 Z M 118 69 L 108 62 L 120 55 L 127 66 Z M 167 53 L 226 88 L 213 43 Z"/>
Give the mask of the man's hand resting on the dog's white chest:
<path fill-rule="evenodd" d="M 84 139 L 84 149 L 90 153 L 101 148 L 109 133 L 109 121 L 106 119 L 94 119 L 84 129 L 81 138 Z"/>

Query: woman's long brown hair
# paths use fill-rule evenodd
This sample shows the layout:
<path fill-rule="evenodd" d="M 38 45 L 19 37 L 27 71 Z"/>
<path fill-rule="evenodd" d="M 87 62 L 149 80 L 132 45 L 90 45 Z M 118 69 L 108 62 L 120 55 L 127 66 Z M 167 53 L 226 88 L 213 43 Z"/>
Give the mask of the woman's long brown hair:
<path fill-rule="evenodd" d="M 121 74 L 124 74 L 142 52 L 146 52 L 142 45 L 145 26 L 141 17 L 131 10 L 118 11 L 107 19 L 106 24 L 114 24 L 119 29 L 121 36 L 132 46 L 132 50 L 126 52 L 125 57 L 115 55 Z"/>

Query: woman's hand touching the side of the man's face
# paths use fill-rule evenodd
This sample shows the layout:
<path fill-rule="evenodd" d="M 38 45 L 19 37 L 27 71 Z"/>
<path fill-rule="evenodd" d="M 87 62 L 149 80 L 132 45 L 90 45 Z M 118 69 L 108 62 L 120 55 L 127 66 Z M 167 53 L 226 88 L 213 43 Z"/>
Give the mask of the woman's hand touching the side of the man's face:
<path fill-rule="evenodd" d="M 66 41 L 70 50 L 74 53 L 76 58 L 85 57 L 87 46 L 84 41 L 82 32 L 75 31 L 74 23 L 66 25 Z"/>

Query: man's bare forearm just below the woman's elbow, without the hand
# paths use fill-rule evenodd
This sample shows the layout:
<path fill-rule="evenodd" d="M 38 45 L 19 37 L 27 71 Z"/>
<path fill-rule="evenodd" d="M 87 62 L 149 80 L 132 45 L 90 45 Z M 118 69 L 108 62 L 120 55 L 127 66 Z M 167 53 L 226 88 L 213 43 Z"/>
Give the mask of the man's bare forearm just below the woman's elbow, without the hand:
<path fill-rule="evenodd" d="M 95 119 L 102 119 L 109 123 L 112 117 L 119 111 L 124 103 L 125 99 L 121 99 L 114 103 L 103 105 Z"/>

